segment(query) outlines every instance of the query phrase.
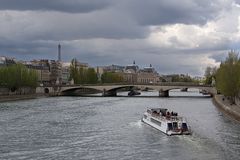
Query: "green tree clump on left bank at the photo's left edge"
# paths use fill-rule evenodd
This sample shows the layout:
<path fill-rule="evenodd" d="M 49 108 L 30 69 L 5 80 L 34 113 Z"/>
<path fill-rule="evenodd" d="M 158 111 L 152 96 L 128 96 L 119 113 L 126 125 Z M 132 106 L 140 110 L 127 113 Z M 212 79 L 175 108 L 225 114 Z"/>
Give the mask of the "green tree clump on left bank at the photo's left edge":
<path fill-rule="evenodd" d="M 0 86 L 16 90 L 20 87 L 37 87 L 37 73 L 23 64 L 0 68 Z"/>

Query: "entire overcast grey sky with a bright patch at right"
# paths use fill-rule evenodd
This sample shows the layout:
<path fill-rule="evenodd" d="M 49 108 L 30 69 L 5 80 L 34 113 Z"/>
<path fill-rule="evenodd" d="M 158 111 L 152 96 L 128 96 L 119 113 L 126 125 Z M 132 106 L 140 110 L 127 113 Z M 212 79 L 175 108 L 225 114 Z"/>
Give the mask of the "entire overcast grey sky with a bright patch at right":
<path fill-rule="evenodd" d="M 0 55 L 203 75 L 240 48 L 240 0 L 0 0 Z"/>

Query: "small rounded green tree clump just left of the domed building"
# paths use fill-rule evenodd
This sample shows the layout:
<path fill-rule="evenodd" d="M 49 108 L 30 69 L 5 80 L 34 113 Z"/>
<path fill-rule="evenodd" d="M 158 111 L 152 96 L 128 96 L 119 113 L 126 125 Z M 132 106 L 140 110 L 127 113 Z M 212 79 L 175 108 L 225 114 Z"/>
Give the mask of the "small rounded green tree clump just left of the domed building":
<path fill-rule="evenodd" d="M 102 83 L 120 83 L 123 82 L 123 77 L 118 73 L 105 72 L 101 77 Z"/>

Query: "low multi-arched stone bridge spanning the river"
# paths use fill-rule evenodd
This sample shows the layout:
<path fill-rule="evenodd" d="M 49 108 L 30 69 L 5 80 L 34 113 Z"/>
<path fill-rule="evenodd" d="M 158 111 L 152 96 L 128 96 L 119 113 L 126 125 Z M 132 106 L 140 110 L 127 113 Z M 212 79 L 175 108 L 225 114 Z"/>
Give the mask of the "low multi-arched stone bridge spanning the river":
<path fill-rule="evenodd" d="M 214 95 L 217 93 L 212 86 L 196 83 L 159 83 L 159 84 L 97 84 L 97 85 L 71 85 L 71 86 L 46 86 L 38 87 L 37 93 L 50 93 L 53 95 L 84 95 L 91 93 L 102 93 L 102 96 L 117 96 L 119 91 L 131 90 L 156 90 L 160 97 L 169 97 L 169 91 L 173 89 L 196 88 L 205 93 Z"/>

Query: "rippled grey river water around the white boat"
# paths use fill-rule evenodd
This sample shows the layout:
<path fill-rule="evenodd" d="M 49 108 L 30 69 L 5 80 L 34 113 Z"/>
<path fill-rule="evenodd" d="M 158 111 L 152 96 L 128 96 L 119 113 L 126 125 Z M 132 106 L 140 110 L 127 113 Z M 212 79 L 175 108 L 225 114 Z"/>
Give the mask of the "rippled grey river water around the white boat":
<path fill-rule="evenodd" d="M 0 103 L 0 159 L 239 159 L 240 124 L 220 113 L 211 98 L 194 90 L 170 92 L 170 98 L 143 95 Z M 177 111 L 193 135 L 166 136 L 142 123 L 148 107 Z"/>

